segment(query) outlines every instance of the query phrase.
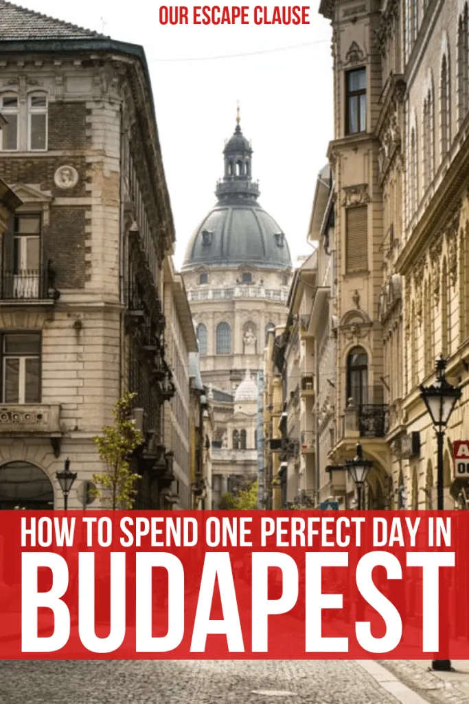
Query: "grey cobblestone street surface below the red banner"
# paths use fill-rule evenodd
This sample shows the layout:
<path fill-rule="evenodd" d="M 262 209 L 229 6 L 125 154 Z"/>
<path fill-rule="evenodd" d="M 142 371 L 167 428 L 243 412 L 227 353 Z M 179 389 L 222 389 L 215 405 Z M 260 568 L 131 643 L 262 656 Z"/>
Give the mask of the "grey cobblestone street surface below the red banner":
<path fill-rule="evenodd" d="M 3 661 L 0 681 L 1 704 L 398 701 L 354 661 Z"/>

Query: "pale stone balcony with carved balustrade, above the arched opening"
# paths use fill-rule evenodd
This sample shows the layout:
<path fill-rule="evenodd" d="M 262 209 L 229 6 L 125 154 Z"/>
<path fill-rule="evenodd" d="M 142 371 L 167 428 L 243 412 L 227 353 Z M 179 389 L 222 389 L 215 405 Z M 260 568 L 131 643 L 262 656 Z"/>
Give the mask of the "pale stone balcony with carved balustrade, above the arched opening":
<path fill-rule="evenodd" d="M 5 403 L 0 406 L 0 434 L 60 436 L 60 406 Z"/>

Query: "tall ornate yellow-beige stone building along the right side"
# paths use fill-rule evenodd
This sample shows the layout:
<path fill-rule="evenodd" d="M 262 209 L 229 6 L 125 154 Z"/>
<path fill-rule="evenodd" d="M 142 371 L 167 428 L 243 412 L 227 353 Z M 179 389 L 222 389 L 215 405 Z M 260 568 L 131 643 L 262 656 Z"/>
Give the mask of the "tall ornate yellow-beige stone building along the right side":
<path fill-rule="evenodd" d="M 322 0 L 333 27 L 336 437 L 361 441 L 369 508 L 436 508 L 435 434 L 420 384 L 435 358 L 462 389 L 444 451 L 468 426 L 468 4 Z M 331 472 L 333 474 L 333 472 Z M 338 482 L 340 484 L 340 482 Z M 353 487 L 336 487 L 342 505 Z"/>

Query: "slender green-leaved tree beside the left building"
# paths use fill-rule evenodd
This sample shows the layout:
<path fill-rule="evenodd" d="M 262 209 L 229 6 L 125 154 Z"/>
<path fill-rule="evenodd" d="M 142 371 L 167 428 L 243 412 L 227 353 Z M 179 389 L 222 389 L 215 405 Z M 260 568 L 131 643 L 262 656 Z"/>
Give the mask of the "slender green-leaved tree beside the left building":
<path fill-rule="evenodd" d="M 110 503 L 113 510 L 132 508 L 137 493 L 136 483 L 139 474 L 131 471 L 130 458 L 132 453 L 143 442 L 143 435 L 135 427 L 132 418 L 132 408 L 136 394 L 125 391 L 122 398 L 114 406 L 115 424 L 103 427 L 103 434 L 96 435 L 93 440 L 98 446 L 98 455 L 106 465 L 102 474 L 94 474 L 96 484 L 95 496 L 101 501 Z"/>

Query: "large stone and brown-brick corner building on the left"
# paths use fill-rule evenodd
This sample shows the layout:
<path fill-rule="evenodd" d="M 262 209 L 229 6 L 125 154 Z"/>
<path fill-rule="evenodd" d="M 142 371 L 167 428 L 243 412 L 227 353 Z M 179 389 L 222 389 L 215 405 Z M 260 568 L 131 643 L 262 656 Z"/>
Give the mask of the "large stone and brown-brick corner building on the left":
<path fill-rule="evenodd" d="M 2 241 L 0 508 L 60 508 L 65 458 L 86 507 L 92 438 L 125 389 L 145 437 L 136 505 L 160 508 L 174 229 L 143 49 L 0 0 L 0 65 L 0 175 L 21 201 Z"/>

